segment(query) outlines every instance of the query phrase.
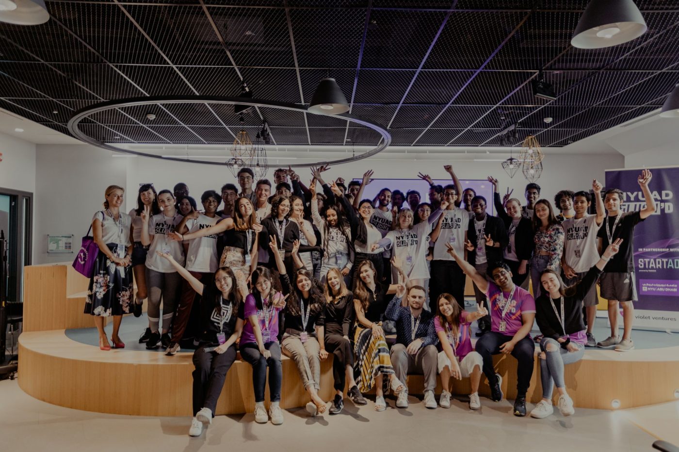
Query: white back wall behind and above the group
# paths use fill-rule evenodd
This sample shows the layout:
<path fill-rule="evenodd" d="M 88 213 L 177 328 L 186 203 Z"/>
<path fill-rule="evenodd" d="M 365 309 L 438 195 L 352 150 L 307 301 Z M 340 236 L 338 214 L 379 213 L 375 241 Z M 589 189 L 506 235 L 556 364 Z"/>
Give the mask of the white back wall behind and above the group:
<path fill-rule="evenodd" d="M 435 156 L 436 162 L 427 162 L 418 156 L 417 161 L 410 155 L 389 155 L 386 153 L 374 159 L 365 159 L 351 164 L 334 166 L 328 178 L 343 176 L 346 179 L 361 177 L 367 169 L 375 170 L 376 178 L 415 178 L 418 172 L 425 172 L 434 178 L 445 178 L 446 162 Z M 459 159 L 460 154 L 449 154 Z M 499 158 L 498 155 L 477 155 L 478 158 Z M 504 158 L 504 155 L 500 157 Z M 593 178 L 603 180 L 606 168 L 621 168 L 625 162 L 622 155 L 547 155 L 545 170 L 538 180 L 543 187 L 543 197 L 551 199 L 559 189 L 588 189 Z M 526 180 L 520 172 L 513 179 L 502 170 L 500 162 L 454 162 L 454 169 L 460 178 L 485 179 L 488 175 L 499 179 L 501 190 L 509 185 L 514 195 L 522 198 Z M 308 169 L 299 169 L 303 181 L 310 179 Z M 270 170 L 268 178 L 273 179 Z M 35 225 L 35 263 L 70 260 L 64 255 L 48 255 L 45 240 L 48 233 L 73 234 L 79 244 L 84 236 L 92 214 L 101 208 L 104 190 L 108 185 L 126 187 L 125 211 L 136 201 L 140 183 L 152 182 L 156 189 L 172 189 L 177 182 L 189 185 L 191 195 L 197 200 L 207 189 L 219 190 L 227 182 L 235 183 L 232 174 L 223 167 L 200 164 L 163 162 L 143 157 L 111 157 L 109 151 L 89 145 L 37 145 L 37 187 L 40 194 L 37 202 L 37 223 Z M 395 188 L 395 187 L 394 187 Z M 423 193 L 424 194 L 424 193 Z"/>

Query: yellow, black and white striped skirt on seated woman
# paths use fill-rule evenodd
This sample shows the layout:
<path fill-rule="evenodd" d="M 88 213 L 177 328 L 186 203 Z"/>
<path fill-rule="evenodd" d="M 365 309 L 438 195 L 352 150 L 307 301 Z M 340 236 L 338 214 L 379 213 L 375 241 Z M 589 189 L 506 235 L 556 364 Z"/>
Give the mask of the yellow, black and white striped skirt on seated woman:
<path fill-rule="evenodd" d="M 354 375 L 359 391 L 368 392 L 375 385 L 375 377 L 394 373 L 389 347 L 384 336 L 373 336 L 371 328 L 357 325 L 354 333 Z M 382 388 L 388 387 L 389 380 L 382 379 Z"/>

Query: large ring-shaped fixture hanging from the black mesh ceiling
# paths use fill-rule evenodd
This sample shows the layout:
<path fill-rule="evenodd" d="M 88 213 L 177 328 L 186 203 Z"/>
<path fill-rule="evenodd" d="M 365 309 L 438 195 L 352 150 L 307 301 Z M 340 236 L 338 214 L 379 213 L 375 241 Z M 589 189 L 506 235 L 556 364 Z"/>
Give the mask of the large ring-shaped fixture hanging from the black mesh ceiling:
<path fill-rule="evenodd" d="M 122 152 L 122 153 L 127 153 L 131 155 L 139 155 L 140 157 L 150 157 L 150 158 L 155 158 L 155 159 L 162 159 L 162 160 L 171 160 L 175 162 L 190 162 L 190 163 L 197 163 L 197 164 L 207 164 L 207 165 L 221 165 L 221 166 L 233 166 L 234 162 L 208 162 L 205 160 L 200 160 L 200 159 L 191 159 L 188 157 L 167 157 L 167 156 L 162 156 L 158 154 L 151 154 L 151 153 L 145 153 L 141 151 L 134 151 L 132 149 L 124 149 L 122 147 L 118 147 L 117 145 L 113 145 L 111 143 L 105 143 L 98 138 L 95 138 L 93 136 L 89 136 L 84 132 L 84 130 L 81 130 L 79 128 L 79 124 L 81 121 L 84 121 L 90 117 L 90 115 L 94 115 L 95 113 L 101 113 L 103 111 L 109 111 L 113 109 L 124 109 L 126 107 L 146 107 L 146 106 L 155 106 L 155 105 L 164 105 L 164 104 L 221 104 L 221 105 L 249 105 L 251 107 L 261 107 L 261 108 L 271 108 L 271 109 L 282 109 L 282 110 L 291 110 L 291 111 L 299 111 L 299 112 L 306 112 L 308 111 L 307 107 L 304 105 L 297 105 L 297 104 L 290 104 L 286 102 L 277 102 L 274 100 L 263 100 L 263 99 L 253 99 L 253 98 L 242 98 L 242 97 L 223 97 L 223 96 L 145 96 L 145 97 L 136 97 L 136 98 L 127 98 L 127 99 L 120 99 L 120 100 L 107 100 L 106 102 L 100 102 L 98 104 L 90 105 L 88 107 L 85 107 L 83 109 L 80 109 L 73 113 L 73 116 L 71 116 L 71 119 L 69 119 L 69 132 L 75 136 L 75 138 L 78 138 L 81 141 L 84 141 L 85 143 L 89 143 L 90 145 L 94 145 L 96 147 L 100 147 L 101 149 L 107 149 L 109 151 L 114 151 L 114 152 Z M 373 155 L 380 153 L 384 149 L 386 149 L 390 144 L 391 144 L 391 134 L 384 128 L 383 126 L 380 126 L 379 124 L 375 124 L 371 121 L 368 121 L 367 119 L 363 119 L 362 117 L 358 115 L 352 115 L 350 113 L 339 113 L 337 115 L 338 118 L 346 119 L 347 121 L 351 121 L 352 123 L 358 125 L 358 126 L 365 126 L 369 128 L 370 130 L 373 130 L 374 132 L 377 132 L 378 134 L 381 135 L 381 138 L 375 147 L 373 149 L 370 149 L 369 151 L 366 151 L 364 153 L 361 153 L 359 155 L 355 155 L 352 157 L 347 157 L 344 159 L 337 159 L 337 160 L 329 160 L 329 161 L 321 161 L 321 162 L 314 162 L 314 163 L 306 163 L 306 164 L 290 164 L 289 166 L 291 168 L 308 168 L 310 166 L 321 166 L 321 165 L 333 165 L 333 164 L 343 164 L 343 163 L 348 163 L 348 162 L 355 162 L 356 160 L 361 160 L 365 159 L 367 157 L 372 157 Z M 232 142 L 232 138 L 228 140 L 228 143 Z M 223 143 L 220 143 L 221 145 L 226 144 L 227 141 L 224 141 Z M 265 143 L 266 143 L 266 138 L 265 138 Z M 163 143 L 166 144 L 166 143 Z M 274 157 L 271 157 L 274 158 Z"/>

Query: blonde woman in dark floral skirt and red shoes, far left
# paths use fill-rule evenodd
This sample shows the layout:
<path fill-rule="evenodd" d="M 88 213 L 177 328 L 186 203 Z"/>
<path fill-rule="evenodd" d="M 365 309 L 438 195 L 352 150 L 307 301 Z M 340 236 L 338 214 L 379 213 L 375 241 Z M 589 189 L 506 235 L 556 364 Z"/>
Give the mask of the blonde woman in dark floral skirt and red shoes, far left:
<path fill-rule="evenodd" d="M 94 261 L 94 273 L 90 278 L 85 301 L 85 314 L 94 316 L 94 325 L 99 333 L 99 348 L 111 350 L 104 331 L 104 318 L 113 316 L 113 348 L 123 348 L 120 340 L 120 322 L 123 314 L 130 314 L 132 303 L 132 242 L 128 214 L 120 211 L 125 189 L 109 185 L 105 191 L 104 210 L 92 217 L 92 236 L 99 248 Z"/>

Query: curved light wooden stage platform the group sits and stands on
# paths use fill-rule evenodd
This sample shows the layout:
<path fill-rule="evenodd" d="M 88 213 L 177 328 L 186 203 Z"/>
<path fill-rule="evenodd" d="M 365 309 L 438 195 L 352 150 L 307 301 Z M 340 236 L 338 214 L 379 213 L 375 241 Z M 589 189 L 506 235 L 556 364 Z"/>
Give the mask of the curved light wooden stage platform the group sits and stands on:
<path fill-rule="evenodd" d="M 19 337 L 19 385 L 31 396 L 62 407 L 145 416 L 191 415 L 191 353 L 165 356 L 141 350 L 103 352 L 97 346 L 75 341 L 68 328 L 92 326 L 82 313 L 82 293 L 87 280 L 67 265 L 26 267 L 24 333 Z M 125 320 L 123 321 L 125 322 Z M 657 333 L 659 339 L 665 333 Z M 297 369 L 283 358 L 281 407 L 301 407 L 308 402 Z M 541 397 L 536 360 L 528 399 Z M 516 361 L 496 356 L 507 398 L 516 396 Z M 422 393 L 422 376 L 408 378 L 409 392 Z M 585 358 L 566 366 L 566 385 L 581 408 L 641 407 L 675 400 L 679 388 L 679 346 L 632 350 L 591 350 Z M 333 397 L 332 362 L 323 362 L 320 396 Z M 454 381 L 454 394 L 469 394 L 469 380 Z M 441 391 L 439 384 L 437 394 Z M 485 378 L 481 396 L 490 394 Z M 555 391 L 556 393 L 556 391 Z M 268 391 L 267 391 L 268 397 Z M 227 375 L 217 414 L 251 412 L 254 409 L 252 368 L 236 361 Z"/>

